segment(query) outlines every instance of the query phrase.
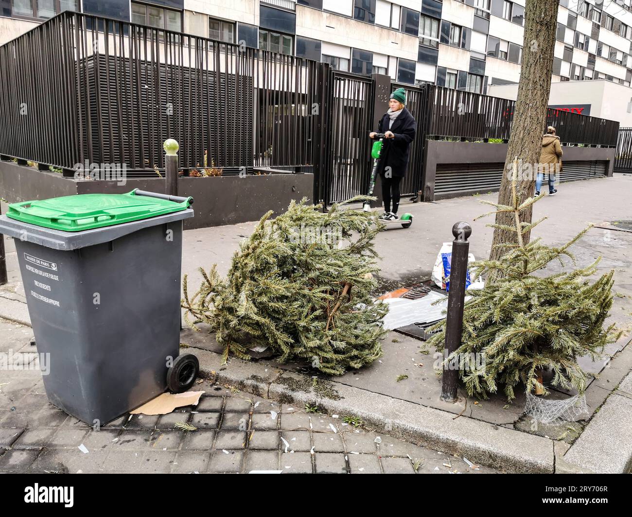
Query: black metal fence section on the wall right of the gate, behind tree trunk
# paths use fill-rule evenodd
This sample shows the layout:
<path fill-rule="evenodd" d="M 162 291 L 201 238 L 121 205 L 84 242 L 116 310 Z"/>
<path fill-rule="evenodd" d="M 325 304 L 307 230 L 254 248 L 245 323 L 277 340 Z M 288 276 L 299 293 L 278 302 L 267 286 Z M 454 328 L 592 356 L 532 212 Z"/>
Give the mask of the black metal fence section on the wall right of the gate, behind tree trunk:
<path fill-rule="evenodd" d="M 429 137 L 509 140 L 516 106 L 514 100 L 445 87 L 428 88 Z M 613 120 L 549 108 L 545 126 L 554 126 L 564 145 L 617 145 L 619 123 Z"/>

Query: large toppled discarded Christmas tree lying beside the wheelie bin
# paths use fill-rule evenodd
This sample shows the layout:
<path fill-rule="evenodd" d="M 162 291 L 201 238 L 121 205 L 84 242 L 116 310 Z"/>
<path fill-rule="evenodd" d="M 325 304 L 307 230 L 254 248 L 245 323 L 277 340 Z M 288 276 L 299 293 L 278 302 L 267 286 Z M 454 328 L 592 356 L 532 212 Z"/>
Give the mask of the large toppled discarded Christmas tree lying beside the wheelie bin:
<path fill-rule="evenodd" d="M 362 202 L 357 197 L 346 203 Z M 303 360 L 342 375 L 382 355 L 386 304 L 371 292 L 378 271 L 375 212 L 347 210 L 303 199 L 276 219 L 268 212 L 233 255 L 226 279 L 213 266 L 183 307 L 187 322 L 210 325 L 229 353 L 248 360 L 255 346 L 270 347 L 281 363 Z"/>

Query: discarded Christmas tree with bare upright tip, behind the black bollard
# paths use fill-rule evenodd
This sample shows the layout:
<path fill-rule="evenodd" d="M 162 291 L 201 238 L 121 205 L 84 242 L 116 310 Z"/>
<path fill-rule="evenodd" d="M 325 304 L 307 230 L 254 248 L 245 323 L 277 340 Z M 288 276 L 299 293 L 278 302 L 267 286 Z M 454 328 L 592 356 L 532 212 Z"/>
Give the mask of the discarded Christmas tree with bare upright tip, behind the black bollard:
<path fill-rule="evenodd" d="M 562 255 L 571 258 L 574 264 L 568 248 L 592 225 L 559 248 L 542 244 L 540 238 L 525 243 L 522 235 L 546 217 L 520 222 L 520 213 L 530 209 L 540 197 L 518 204 L 515 185 L 514 181 L 513 205 L 483 202 L 496 210 L 480 217 L 499 212 L 513 214 L 513 225 L 503 225 L 502 229 L 516 233 L 518 242 L 501 244 L 504 253 L 499 260 L 471 264 L 476 276 L 501 272 L 501 279 L 483 289 L 467 291 L 471 299 L 464 307 L 461 346 L 444 364 L 450 360 L 460 362 L 465 367 L 459 368 L 459 375 L 466 391 L 478 398 L 488 398 L 503 386 L 511 401 L 519 382 L 525 384 L 528 393 L 544 390 L 546 394 L 547 389 L 538 382 L 544 368 L 552 370 L 553 386 L 574 388 L 581 394 L 586 387 L 586 375 L 577 359 L 585 355 L 599 357 L 604 346 L 619 337 L 614 325 L 604 328 L 612 307 L 614 271 L 591 284 L 586 277 L 597 272 L 599 257 L 580 269 L 535 276 L 533 273 L 552 260 L 564 265 Z M 444 348 L 445 325 L 446 320 L 435 325 L 439 332 L 428 342 L 440 351 Z"/>

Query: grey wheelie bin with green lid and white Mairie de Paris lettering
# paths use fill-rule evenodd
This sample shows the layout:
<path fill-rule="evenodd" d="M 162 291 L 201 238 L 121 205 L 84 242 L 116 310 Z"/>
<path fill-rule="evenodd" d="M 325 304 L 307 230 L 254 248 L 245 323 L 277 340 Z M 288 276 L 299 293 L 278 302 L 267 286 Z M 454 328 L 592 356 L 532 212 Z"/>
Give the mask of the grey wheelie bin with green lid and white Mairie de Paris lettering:
<path fill-rule="evenodd" d="M 183 219 L 193 198 L 133 190 L 9 205 L 49 401 L 104 425 L 167 387 L 185 391 L 197 358 L 178 356 Z"/>

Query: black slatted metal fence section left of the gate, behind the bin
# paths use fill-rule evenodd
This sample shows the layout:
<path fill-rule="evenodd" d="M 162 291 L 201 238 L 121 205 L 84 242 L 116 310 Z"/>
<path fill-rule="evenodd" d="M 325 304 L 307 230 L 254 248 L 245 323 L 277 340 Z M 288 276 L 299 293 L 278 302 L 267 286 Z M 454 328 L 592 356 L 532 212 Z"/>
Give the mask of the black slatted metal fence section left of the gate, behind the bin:
<path fill-rule="evenodd" d="M 68 11 L 0 47 L 0 152 L 56 167 L 312 161 L 319 63 Z"/>

